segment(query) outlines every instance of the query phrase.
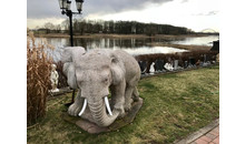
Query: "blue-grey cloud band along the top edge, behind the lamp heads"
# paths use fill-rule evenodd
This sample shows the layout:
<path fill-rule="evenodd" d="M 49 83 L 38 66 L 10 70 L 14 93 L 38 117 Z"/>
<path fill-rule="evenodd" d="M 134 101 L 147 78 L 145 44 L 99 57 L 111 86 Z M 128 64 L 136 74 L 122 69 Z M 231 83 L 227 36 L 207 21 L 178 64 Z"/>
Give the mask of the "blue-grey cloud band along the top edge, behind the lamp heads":
<path fill-rule="evenodd" d="M 88 14 L 110 14 L 127 10 L 141 10 L 148 3 L 166 3 L 173 0 L 85 0 L 82 17 Z M 71 0 L 72 10 L 76 10 L 75 0 Z M 63 18 L 58 0 L 27 0 L 27 18 Z"/>

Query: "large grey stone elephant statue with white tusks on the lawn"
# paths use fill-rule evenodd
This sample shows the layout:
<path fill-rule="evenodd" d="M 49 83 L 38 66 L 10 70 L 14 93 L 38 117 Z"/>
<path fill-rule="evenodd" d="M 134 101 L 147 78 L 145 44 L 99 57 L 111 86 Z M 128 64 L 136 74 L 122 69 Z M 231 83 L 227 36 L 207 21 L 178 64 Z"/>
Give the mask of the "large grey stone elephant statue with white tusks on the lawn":
<path fill-rule="evenodd" d="M 140 68 L 124 50 L 95 49 L 86 52 L 81 47 L 68 47 L 61 61 L 69 86 L 78 89 L 68 114 L 108 126 L 117 117 L 125 116 L 131 103 L 139 100 Z M 110 102 L 107 97 L 109 90 Z"/>

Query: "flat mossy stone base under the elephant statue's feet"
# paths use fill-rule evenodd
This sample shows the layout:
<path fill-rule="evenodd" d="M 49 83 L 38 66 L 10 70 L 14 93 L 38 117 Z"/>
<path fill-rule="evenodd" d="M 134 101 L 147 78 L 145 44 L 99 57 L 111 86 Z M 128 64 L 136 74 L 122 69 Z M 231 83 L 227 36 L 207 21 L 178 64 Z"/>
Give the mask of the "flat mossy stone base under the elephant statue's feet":
<path fill-rule="evenodd" d="M 143 102 L 144 100 L 139 97 L 139 101 L 133 103 L 131 110 L 129 112 L 126 112 L 126 115 L 122 119 L 116 120 L 111 125 L 107 127 L 100 127 L 97 124 L 84 120 L 79 116 L 71 116 L 67 112 L 62 114 L 62 119 L 69 123 L 76 124 L 77 126 L 81 127 L 84 131 L 87 131 L 90 134 L 117 131 L 120 127 L 126 126 L 134 121 L 137 112 L 143 106 Z"/>

